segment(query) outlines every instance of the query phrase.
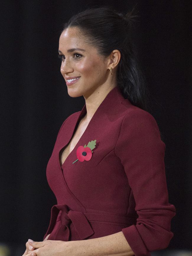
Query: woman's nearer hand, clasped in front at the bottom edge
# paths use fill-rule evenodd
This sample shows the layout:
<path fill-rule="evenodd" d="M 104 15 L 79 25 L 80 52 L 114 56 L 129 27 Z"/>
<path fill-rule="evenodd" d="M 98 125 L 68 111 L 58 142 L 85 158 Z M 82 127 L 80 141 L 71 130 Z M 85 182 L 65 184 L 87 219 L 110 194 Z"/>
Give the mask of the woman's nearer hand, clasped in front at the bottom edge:
<path fill-rule="evenodd" d="M 24 255 L 25 256 L 63 256 L 65 254 L 65 256 L 71 256 L 71 252 L 74 249 L 74 246 L 72 246 L 71 242 L 74 242 L 74 241 L 65 242 L 65 241 L 58 241 L 58 240 L 44 240 L 43 242 L 29 242 L 29 244 L 36 249 L 28 250 L 28 253 Z"/>

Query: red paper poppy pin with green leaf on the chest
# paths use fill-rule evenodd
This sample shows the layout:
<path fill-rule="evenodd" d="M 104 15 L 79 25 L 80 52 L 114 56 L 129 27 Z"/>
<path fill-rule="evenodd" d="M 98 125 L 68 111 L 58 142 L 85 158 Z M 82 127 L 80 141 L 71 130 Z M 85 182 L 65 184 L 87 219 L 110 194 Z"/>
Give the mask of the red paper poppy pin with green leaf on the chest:
<path fill-rule="evenodd" d="M 75 163 L 76 161 L 80 161 L 80 162 L 83 162 L 84 160 L 86 161 L 89 161 L 92 157 L 92 149 L 95 148 L 95 145 L 96 145 L 96 140 L 92 140 L 90 141 L 87 146 L 86 144 L 83 146 L 79 146 L 77 148 L 77 151 L 76 151 L 76 155 L 77 155 L 77 160 L 75 160 L 73 163 Z"/>

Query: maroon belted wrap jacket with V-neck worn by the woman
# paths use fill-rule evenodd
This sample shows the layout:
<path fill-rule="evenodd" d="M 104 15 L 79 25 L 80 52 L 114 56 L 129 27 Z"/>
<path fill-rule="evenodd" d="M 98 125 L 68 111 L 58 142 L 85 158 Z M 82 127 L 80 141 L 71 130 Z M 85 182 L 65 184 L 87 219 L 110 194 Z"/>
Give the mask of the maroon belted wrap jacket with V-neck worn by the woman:
<path fill-rule="evenodd" d="M 154 117 L 113 88 L 60 166 L 59 152 L 85 114 L 86 105 L 64 121 L 48 161 L 57 205 L 43 239 L 50 233 L 49 240 L 72 241 L 122 231 L 136 256 L 166 248 L 175 207 L 168 202 L 165 143 Z M 87 150 L 91 141 L 95 148 Z M 77 160 L 79 146 L 84 161 Z"/>

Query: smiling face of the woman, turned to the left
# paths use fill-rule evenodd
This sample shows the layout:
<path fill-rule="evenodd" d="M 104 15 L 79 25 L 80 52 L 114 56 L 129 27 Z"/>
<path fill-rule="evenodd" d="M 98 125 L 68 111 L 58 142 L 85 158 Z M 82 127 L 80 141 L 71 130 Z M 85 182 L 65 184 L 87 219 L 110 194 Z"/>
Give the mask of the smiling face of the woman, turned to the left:
<path fill-rule="evenodd" d="M 109 60 L 99 56 L 97 49 L 84 39 L 77 27 L 66 28 L 59 38 L 61 74 L 71 97 L 83 95 L 88 98 L 106 82 L 109 75 Z"/>

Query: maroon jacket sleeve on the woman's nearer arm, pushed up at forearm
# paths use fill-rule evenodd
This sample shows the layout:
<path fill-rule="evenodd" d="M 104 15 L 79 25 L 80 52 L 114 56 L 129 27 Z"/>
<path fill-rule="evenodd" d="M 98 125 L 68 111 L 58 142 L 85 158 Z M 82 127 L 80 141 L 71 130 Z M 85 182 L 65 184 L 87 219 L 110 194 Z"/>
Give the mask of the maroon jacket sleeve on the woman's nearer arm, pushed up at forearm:
<path fill-rule="evenodd" d="M 176 210 L 168 202 L 165 143 L 151 114 L 140 108 L 126 114 L 115 155 L 124 166 L 138 215 L 136 225 L 122 229 L 128 244 L 135 256 L 165 249 L 173 237 L 170 223 Z"/>

